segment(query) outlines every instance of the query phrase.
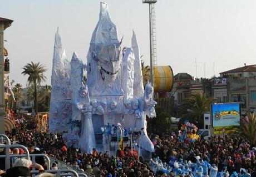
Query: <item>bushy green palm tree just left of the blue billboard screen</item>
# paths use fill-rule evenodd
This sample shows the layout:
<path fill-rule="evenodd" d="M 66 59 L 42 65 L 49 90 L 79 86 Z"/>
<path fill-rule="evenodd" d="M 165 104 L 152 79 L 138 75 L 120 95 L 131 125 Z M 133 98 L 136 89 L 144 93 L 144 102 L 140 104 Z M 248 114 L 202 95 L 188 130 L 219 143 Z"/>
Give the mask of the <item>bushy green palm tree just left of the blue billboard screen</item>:
<path fill-rule="evenodd" d="M 191 97 L 186 98 L 182 104 L 183 116 L 188 119 L 196 118 L 200 128 L 203 128 L 204 113 L 210 110 L 211 103 L 214 103 L 214 98 L 206 97 L 205 93 L 196 93 Z"/>

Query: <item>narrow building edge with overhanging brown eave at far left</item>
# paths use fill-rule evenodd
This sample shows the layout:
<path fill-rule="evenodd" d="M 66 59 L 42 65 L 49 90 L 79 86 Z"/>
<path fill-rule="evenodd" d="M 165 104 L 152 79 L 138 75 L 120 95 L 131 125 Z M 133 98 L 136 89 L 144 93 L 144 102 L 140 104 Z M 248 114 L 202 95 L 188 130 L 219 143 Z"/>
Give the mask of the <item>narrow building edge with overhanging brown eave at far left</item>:
<path fill-rule="evenodd" d="M 3 55 L 3 31 L 12 24 L 11 19 L 0 17 L 0 133 L 4 134 L 4 55 Z"/>

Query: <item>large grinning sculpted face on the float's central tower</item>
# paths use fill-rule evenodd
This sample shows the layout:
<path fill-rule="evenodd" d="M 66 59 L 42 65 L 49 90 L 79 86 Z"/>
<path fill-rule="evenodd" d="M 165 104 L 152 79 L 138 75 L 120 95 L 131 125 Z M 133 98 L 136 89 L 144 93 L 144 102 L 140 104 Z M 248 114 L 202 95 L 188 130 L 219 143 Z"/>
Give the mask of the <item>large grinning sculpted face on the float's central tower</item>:
<path fill-rule="evenodd" d="M 92 52 L 92 58 L 97 60 L 102 80 L 114 82 L 121 69 L 121 42 L 119 44 L 104 45 L 98 55 Z"/>

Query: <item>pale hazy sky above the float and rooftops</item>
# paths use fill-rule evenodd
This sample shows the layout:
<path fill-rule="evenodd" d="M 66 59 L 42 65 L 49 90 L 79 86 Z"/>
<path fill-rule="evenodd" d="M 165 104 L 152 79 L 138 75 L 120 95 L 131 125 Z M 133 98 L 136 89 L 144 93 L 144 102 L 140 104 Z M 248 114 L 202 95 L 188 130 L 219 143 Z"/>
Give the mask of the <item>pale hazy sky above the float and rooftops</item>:
<path fill-rule="evenodd" d="M 142 59 L 149 64 L 149 9 L 141 0 L 108 0 L 112 21 L 123 46 L 131 45 L 135 29 Z M 50 84 L 54 35 L 60 27 L 63 47 L 71 59 L 78 52 L 83 62 L 99 19 L 98 0 L 0 0 L 0 17 L 13 19 L 5 31 L 11 62 L 10 78 L 26 86 L 22 67 L 31 61 L 46 64 Z M 156 3 L 157 64 L 170 65 L 174 74 L 188 72 L 213 76 L 256 64 L 256 1 L 159 0 Z"/>

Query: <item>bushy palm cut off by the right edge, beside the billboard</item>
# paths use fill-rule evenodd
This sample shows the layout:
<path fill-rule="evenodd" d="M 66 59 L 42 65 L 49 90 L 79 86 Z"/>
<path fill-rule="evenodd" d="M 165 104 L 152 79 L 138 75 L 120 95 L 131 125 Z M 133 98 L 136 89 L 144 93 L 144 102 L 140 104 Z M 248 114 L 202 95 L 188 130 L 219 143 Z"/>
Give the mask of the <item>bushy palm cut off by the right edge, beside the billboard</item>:
<path fill-rule="evenodd" d="M 256 113 L 248 113 L 241 118 L 240 127 L 236 129 L 238 135 L 256 145 Z"/>

